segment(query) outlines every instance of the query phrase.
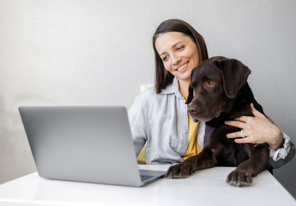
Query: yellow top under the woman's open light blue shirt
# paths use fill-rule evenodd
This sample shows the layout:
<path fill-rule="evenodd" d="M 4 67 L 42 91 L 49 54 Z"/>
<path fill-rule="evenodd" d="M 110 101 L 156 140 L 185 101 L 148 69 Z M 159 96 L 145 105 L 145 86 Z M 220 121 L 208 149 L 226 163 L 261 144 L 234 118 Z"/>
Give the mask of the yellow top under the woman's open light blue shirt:
<path fill-rule="evenodd" d="M 185 96 L 182 94 L 182 96 L 184 96 L 185 100 L 187 100 L 188 95 Z M 187 104 L 187 107 L 189 107 L 189 105 L 190 104 Z M 188 147 L 186 149 L 186 152 L 182 156 L 182 158 L 184 160 L 186 160 L 188 157 L 197 155 L 202 151 L 202 149 L 200 148 L 200 145 L 197 142 L 197 127 L 198 127 L 199 121 L 197 123 L 195 123 L 191 119 L 189 112 L 187 112 L 187 115 L 188 115 L 188 130 L 189 130 L 188 131 Z M 146 149 L 146 147 L 142 148 L 142 150 L 137 158 L 137 160 L 139 162 L 146 163 L 145 162 L 145 149 Z"/>

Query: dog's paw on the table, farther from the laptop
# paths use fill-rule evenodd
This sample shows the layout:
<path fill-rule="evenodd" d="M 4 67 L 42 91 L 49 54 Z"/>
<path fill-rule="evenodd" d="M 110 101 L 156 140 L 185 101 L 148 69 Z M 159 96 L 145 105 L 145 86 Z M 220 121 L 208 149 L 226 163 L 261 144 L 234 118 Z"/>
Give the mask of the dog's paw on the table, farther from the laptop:
<path fill-rule="evenodd" d="M 228 175 L 226 182 L 237 187 L 250 186 L 252 175 L 247 170 L 234 170 Z"/>

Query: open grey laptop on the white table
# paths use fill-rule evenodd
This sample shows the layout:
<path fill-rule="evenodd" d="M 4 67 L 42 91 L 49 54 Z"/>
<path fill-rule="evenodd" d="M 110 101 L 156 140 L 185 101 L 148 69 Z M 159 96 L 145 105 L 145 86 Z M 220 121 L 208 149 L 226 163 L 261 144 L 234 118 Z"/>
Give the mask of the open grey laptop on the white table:
<path fill-rule="evenodd" d="M 164 171 L 139 170 L 125 107 L 19 107 L 40 177 L 144 186 Z"/>

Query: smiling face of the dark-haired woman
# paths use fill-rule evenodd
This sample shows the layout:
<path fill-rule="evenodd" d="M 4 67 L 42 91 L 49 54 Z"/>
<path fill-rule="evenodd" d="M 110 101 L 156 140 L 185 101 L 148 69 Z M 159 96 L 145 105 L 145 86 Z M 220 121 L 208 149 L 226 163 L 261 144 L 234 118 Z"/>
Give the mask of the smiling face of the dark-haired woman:
<path fill-rule="evenodd" d="M 197 45 L 189 36 L 181 32 L 160 34 L 155 40 L 155 48 L 166 70 L 179 81 L 190 81 L 192 69 L 199 64 L 199 55 Z"/>

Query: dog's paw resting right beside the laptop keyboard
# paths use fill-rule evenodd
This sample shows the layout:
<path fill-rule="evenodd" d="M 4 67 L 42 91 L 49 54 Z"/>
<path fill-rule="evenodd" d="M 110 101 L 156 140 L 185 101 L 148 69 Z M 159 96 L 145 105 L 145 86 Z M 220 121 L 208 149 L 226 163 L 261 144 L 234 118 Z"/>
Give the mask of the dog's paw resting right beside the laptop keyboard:
<path fill-rule="evenodd" d="M 194 173 L 193 168 L 189 164 L 179 163 L 178 165 L 170 166 L 166 173 L 167 178 L 186 178 Z"/>

